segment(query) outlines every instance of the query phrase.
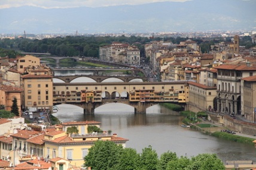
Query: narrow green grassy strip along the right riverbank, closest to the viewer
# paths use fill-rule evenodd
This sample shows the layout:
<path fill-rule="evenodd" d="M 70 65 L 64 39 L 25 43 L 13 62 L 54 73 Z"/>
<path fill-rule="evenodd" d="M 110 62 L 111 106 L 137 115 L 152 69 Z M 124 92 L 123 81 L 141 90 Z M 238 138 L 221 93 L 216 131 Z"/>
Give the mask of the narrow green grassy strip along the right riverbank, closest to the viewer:
<path fill-rule="evenodd" d="M 214 137 L 223 138 L 225 140 L 246 143 L 254 146 L 254 143 L 252 143 L 252 141 L 254 141 L 255 139 L 253 138 L 241 137 L 239 135 L 228 134 L 227 132 L 214 132 L 211 135 Z"/>

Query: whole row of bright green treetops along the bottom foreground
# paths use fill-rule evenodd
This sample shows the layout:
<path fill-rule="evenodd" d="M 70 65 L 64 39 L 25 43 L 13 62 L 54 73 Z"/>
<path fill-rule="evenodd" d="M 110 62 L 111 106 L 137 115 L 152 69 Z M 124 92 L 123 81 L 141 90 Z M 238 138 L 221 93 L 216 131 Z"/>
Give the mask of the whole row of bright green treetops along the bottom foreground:
<path fill-rule="evenodd" d="M 199 154 L 191 157 L 178 157 L 176 153 L 166 152 L 160 159 L 151 146 L 142 149 L 123 148 L 111 141 L 96 141 L 84 157 L 84 165 L 92 170 L 222 170 L 223 162 L 216 154 Z"/>

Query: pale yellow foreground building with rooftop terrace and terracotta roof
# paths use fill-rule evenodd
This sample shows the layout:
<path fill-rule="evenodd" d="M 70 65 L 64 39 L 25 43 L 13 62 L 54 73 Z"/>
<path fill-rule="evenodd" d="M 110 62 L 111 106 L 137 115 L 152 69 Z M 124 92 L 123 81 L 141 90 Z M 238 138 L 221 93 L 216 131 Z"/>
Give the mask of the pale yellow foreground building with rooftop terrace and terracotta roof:
<path fill-rule="evenodd" d="M 49 159 L 54 157 L 62 157 L 71 162 L 71 165 L 83 166 L 84 156 L 87 155 L 90 147 L 97 140 L 113 141 L 116 144 L 126 146 L 125 138 L 117 137 L 116 134 L 108 134 L 108 132 L 87 134 L 87 127 L 90 125 L 99 126 L 96 121 L 83 121 L 83 122 L 67 122 L 63 123 L 63 129 L 69 126 L 76 126 L 78 134 L 66 134 L 66 131 L 53 131 L 44 135 L 44 153 L 45 157 Z"/>

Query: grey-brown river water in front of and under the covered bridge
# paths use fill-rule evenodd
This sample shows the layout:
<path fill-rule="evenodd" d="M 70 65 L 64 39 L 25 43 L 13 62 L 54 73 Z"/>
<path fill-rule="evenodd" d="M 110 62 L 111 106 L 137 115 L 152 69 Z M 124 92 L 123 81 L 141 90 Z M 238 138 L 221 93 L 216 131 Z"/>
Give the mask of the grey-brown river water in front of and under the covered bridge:
<path fill-rule="evenodd" d="M 200 153 L 215 153 L 225 160 L 254 160 L 256 149 L 248 144 L 235 143 L 202 134 L 199 131 L 182 128 L 182 116 L 159 105 L 147 109 L 146 114 L 134 114 L 133 107 L 126 104 L 105 104 L 95 109 L 94 115 L 83 115 L 77 106 L 61 104 L 54 113 L 59 120 L 96 120 L 103 131 L 111 130 L 118 137 L 127 138 L 126 147 L 138 153 L 152 146 L 160 156 L 175 152 L 178 156 L 197 156 Z"/>

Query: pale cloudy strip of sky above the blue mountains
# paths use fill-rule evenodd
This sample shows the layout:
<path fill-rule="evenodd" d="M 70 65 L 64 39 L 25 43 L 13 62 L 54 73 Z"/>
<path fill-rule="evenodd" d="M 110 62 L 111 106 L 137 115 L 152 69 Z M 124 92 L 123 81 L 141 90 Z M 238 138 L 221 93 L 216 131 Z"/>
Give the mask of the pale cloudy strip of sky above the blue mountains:
<path fill-rule="evenodd" d="M 108 7 L 165 1 L 185 2 L 189 0 L 0 0 L 0 9 L 22 7 L 25 5 L 41 8 Z"/>

